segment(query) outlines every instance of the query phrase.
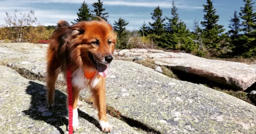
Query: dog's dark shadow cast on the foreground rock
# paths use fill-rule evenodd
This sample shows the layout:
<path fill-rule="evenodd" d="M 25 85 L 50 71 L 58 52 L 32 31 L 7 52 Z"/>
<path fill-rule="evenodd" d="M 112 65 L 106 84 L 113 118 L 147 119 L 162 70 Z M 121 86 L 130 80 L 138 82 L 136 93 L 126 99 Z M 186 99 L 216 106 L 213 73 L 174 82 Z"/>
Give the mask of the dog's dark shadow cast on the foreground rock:
<path fill-rule="evenodd" d="M 24 110 L 22 112 L 29 115 L 29 117 L 34 120 L 44 121 L 47 124 L 54 126 L 60 134 L 64 134 L 64 131 L 67 131 L 68 127 L 68 119 L 66 118 L 68 116 L 66 107 L 67 95 L 55 90 L 55 106 L 47 109 L 45 108 L 46 90 L 44 85 L 29 81 L 26 93 L 31 95 L 30 107 L 28 110 Z M 100 124 L 94 117 L 91 117 L 79 109 L 78 115 L 100 129 Z M 62 130 L 60 128 L 62 125 L 66 125 L 66 130 Z"/>

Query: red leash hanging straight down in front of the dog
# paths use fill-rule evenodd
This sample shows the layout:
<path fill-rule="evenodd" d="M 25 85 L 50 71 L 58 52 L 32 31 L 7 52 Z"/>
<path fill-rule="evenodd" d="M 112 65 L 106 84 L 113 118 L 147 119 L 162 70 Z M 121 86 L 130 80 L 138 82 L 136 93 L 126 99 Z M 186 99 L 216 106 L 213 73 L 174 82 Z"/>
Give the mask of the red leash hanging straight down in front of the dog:
<path fill-rule="evenodd" d="M 72 72 L 69 67 L 67 70 L 67 87 L 68 87 L 68 101 L 69 101 L 69 134 L 73 134 Z"/>

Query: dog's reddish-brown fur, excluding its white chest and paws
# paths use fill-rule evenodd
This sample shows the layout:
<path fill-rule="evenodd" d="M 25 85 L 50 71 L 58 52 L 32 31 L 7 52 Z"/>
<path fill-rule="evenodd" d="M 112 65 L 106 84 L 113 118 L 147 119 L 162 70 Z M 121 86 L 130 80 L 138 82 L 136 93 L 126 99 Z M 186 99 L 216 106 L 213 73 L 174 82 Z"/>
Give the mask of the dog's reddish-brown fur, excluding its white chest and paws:
<path fill-rule="evenodd" d="M 94 45 L 95 38 L 100 44 Z M 112 43 L 108 44 L 108 39 Z M 55 81 L 60 72 L 65 74 L 68 65 L 75 72 L 81 68 L 96 71 L 94 64 L 89 58 L 88 52 L 94 55 L 96 60 L 102 60 L 105 56 L 112 55 L 116 44 L 116 34 L 112 26 L 101 21 L 83 21 L 69 26 L 67 21 L 60 20 L 57 28 L 49 39 L 47 49 L 47 107 L 54 104 Z M 105 60 L 105 59 L 104 59 Z M 95 87 L 91 87 L 94 105 L 99 111 L 99 119 L 107 122 L 106 117 L 106 79 L 96 73 L 100 81 Z M 93 83 L 91 79 L 89 85 Z M 77 108 L 77 101 L 81 89 L 72 86 L 73 109 Z"/>

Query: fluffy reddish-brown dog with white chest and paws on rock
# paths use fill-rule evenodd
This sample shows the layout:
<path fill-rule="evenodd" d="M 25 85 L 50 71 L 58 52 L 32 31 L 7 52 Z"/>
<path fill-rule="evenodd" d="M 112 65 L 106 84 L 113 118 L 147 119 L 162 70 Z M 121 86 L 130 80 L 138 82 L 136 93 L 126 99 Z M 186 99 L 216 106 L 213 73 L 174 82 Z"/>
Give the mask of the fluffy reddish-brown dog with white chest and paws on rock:
<path fill-rule="evenodd" d="M 46 107 L 54 106 L 55 82 L 59 73 L 67 76 L 72 72 L 73 131 L 78 130 L 79 92 L 90 89 L 93 104 L 98 110 L 99 124 L 103 132 L 112 126 L 106 116 L 106 76 L 108 64 L 113 60 L 117 35 L 112 26 L 99 17 L 100 21 L 81 21 L 70 25 L 65 20 L 57 23 L 49 38 L 46 60 Z M 67 99 L 68 100 L 68 99 Z M 68 101 L 67 101 L 68 103 Z"/>

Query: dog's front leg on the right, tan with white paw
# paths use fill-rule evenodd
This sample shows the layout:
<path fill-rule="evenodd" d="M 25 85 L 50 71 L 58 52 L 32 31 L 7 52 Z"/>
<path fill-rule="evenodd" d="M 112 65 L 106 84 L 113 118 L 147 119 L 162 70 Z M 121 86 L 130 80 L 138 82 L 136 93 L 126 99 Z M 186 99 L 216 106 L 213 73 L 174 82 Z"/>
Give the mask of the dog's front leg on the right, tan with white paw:
<path fill-rule="evenodd" d="M 98 110 L 99 123 L 101 130 L 108 133 L 112 130 L 112 126 L 108 123 L 106 114 L 106 78 L 98 75 L 96 78 L 91 80 L 91 92 L 93 98 L 93 104 Z"/>

